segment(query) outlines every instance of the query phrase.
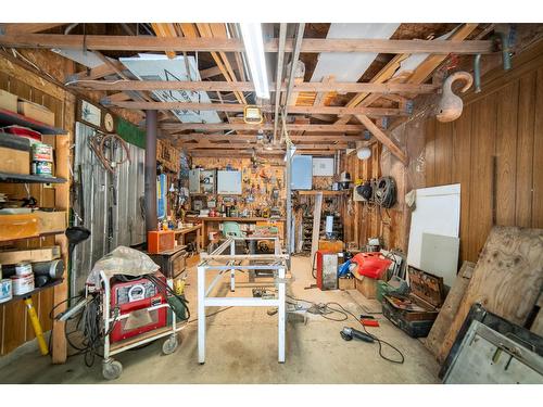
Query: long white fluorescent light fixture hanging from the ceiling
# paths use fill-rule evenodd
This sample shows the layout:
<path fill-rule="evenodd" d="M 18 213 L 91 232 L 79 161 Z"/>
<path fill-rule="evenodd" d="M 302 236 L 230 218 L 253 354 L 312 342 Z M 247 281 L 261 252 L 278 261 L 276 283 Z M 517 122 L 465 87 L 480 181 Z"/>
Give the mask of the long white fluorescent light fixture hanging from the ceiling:
<path fill-rule="evenodd" d="M 249 71 L 253 79 L 256 97 L 269 99 L 268 75 L 264 58 L 264 39 L 260 23 L 240 23 L 241 37 L 245 46 Z"/>

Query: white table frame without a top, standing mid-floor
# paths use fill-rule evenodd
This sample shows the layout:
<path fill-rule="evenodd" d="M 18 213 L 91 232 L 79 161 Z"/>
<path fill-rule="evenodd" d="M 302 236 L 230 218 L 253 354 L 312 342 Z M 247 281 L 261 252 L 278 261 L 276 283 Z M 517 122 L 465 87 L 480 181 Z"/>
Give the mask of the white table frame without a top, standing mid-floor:
<path fill-rule="evenodd" d="M 274 254 L 236 254 L 236 241 L 274 240 Z M 229 250 L 228 250 L 229 249 Z M 224 254 L 225 252 L 229 254 Z M 286 271 L 288 255 L 281 254 L 280 242 L 277 237 L 228 238 L 213 253 L 201 253 L 202 262 L 198 265 L 198 361 L 205 363 L 205 307 L 277 307 L 278 308 L 278 361 L 285 363 L 285 331 L 286 331 Z M 266 264 L 243 264 L 243 260 L 262 260 Z M 230 271 L 230 291 L 236 290 L 236 270 L 274 270 L 277 298 L 255 297 L 214 297 L 209 296 L 211 291 Z M 206 287 L 207 271 L 217 271 L 218 275 Z"/>

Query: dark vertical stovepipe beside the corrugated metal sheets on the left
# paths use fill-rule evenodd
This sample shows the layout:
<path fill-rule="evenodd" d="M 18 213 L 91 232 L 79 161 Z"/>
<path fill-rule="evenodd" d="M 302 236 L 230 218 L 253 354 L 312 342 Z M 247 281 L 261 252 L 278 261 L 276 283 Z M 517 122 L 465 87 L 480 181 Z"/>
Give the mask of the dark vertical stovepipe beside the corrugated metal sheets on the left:
<path fill-rule="evenodd" d="M 157 229 L 156 219 L 156 129 L 157 112 L 146 111 L 146 230 Z"/>

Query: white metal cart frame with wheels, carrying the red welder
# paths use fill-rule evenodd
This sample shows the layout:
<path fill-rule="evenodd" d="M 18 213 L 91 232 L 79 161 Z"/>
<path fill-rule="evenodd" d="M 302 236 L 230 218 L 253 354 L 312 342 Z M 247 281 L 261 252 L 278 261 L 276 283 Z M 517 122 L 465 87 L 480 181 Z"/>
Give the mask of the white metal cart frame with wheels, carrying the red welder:
<path fill-rule="evenodd" d="M 118 361 L 112 358 L 112 356 L 117 355 L 122 352 L 144 345 L 149 342 L 156 341 L 161 338 L 166 338 L 167 339 L 164 341 L 162 344 L 162 352 L 164 355 L 172 355 L 177 347 L 179 346 L 179 338 L 178 333 L 185 329 L 186 325 L 179 326 L 177 323 L 177 317 L 173 310 L 173 308 L 169 306 L 168 303 L 160 304 L 160 305 L 154 305 L 149 308 L 142 308 L 142 309 L 148 309 L 148 310 L 153 310 L 157 309 L 161 307 L 167 307 L 169 308 L 172 313 L 172 325 L 168 327 L 164 328 L 157 328 L 153 331 L 144 332 L 139 334 L 138 336 L 130 338 L 125 341 L 116 342 L 111 344 L 110 341 L 110 333 L 112 331 L 112 328 L 115 323 L 118 323 L 119 317 L 116 315 L 112 315 L 112 309 L 111 309 L 111 291 L 110 291 L 110 280 L 105 277 L 103 271 L 100 272 L 100 279 L 103 284 L 103 322 L 104 322 L 104 332 L 108 332 L 108 334 L 104 336 L 104 358 L 102 361 L 102 374 L 104 379 L 106 380 L 115 380 L 121 377 L 123 373 L 123 365 Z M 126 315 L 124 316 L 126 317 Z"/>

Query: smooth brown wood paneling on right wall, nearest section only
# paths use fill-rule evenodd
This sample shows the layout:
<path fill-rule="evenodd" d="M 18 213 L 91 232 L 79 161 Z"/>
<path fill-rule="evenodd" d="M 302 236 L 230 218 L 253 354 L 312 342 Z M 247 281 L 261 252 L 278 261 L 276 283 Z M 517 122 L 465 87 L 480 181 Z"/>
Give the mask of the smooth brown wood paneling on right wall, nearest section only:
<path fill-rule="evenodd" d="M 426 186 L 462 186 L 462 260 L 493 225 L 543 228 L 543 53 L 528 52 L 489 73 L 457 120 L 426 122 Z"/>

